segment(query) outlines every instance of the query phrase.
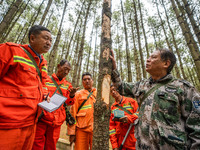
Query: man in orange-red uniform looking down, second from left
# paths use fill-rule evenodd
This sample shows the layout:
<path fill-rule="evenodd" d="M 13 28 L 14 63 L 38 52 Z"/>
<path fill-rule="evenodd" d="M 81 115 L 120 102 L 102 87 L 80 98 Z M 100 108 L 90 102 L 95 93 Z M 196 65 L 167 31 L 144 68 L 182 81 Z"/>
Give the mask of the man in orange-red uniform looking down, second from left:
<path fill-rule="evenodd" d="M 73 88 L 71 83 L 66 80 L 70 69 L 70 63 L 65 59 L 61 60 L 57 65 L 56 74 L 52 74 L 46 82 L 47 88 L 50 91 L 50 97 L 57 92 L 67 97 L 65 102 L 67 105 L 74 104 L 75 93 L 78 90 L 78 88 Z M 56 82 L 60 88 L 57 88 L 54 82 Z M 61 90 L 61 92 L 59 90 Z M 60 136 L 60 128 L 66 119 L 65 106 L 63 104 L 59 109 L 51 113 L 45 110 L 43 110 L 43 112 L 44 115 L 37 123 L 32 150 L 56 150 L 56 143 Z"/>

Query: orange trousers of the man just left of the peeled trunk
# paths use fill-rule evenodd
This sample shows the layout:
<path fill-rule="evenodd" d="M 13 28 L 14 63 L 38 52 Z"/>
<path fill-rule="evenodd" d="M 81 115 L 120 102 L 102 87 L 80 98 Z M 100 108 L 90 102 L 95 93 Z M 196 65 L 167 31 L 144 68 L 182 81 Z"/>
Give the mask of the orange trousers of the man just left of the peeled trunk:
<path fill-rule="evenodd" d="M 84 129 L 77 128 L 75 150 L 90 150 L 92 149 L 93 132 L 85 132 Z"/>

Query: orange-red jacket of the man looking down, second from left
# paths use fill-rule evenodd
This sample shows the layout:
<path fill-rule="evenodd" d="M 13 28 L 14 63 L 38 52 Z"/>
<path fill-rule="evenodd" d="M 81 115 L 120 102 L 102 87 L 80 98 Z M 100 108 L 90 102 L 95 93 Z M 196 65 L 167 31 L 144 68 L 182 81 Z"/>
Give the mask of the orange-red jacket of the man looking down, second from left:
<path fill-rule="evenodd" d="M 75 101 L 75 97 L 70 98 L 70 96 L 69 96 L 70 92 L 68 91 L 68 89 L 72 88 L 71 83 L 66 81 L 66 78 L 63 78 L 61 81 L 59 81 L 59 79 L 55 73 L 52 74 L 52 77 L 55 79 L 55 81 L 57 82 L 58 85 L 61 85 L 60 89 L 62 91 L 62 94 L 63 94 L 63 96 L 67 97 L 66 104 L 73 105 L 74 101 Z M 49 96 L 51 97 L 57 88 L 50 77 L 48 77 L 48 79 L 47 79 L 46 86 L 50 92 Z M 60 94 L 59 90 L 57 90 L 56 92 Z M 63 124 L 63 122 L 65 121 L 66 112 L 65 112 L 64 104 L 59 109 L 57 109 L 51 113 L 47 112 L 45 110 L 43 110 L 43 111 L 44 111 L 44 116 L 41 118 L 41 121 L 43 121 L 49 125 L 61 126 Z"/>

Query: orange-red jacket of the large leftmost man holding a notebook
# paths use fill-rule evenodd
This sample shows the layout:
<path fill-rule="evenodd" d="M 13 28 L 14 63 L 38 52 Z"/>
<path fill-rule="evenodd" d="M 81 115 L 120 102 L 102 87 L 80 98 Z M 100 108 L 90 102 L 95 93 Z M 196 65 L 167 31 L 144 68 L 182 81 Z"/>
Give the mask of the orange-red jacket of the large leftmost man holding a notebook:
<path fill-rule="evenodd" d="M 20 47 L 34 57 L 42 76 Z M 47 61 L 28 47 L 15 43 L 0 44 L 0 129 L 21 128 L 37 120 L 37 104 L 47 93 Z"/>

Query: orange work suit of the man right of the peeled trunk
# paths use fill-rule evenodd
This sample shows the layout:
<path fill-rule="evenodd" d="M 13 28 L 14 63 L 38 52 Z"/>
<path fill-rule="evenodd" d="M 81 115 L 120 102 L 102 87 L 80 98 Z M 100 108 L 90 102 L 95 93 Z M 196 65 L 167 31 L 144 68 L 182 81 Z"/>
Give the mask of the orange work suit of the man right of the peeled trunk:
<path fill-rule="evenodd" d="M 119 105 L 132 113 L 132 115 L 130 115 L 124 111 L 124 115 L 128 117 L 128 123 L 122 123 L 122 122 L 112 120 L 114 117 L 113 111 L 116 109 L 120 109 L 116 107 L 115 105 Z M 138 109 L 137 102 L 134 99 L 128 98 L 128 97 L 123 97 L 123 99 L 121 100 L 121 103 L 114 102 L 112 104 L 109 135 L 110 135 L 110 142 L 112 144 L 113 149 L 119 148 L 130 126 L 130 123 L 133 123 L 138 118 L 137 109 Z M 129 135 L 124 143 L 123 148 L 135 149 L 135 142 L 136 142 L 136 138 L 134 136 L 134 126 L 133 126 L 129 132 Z"/>

